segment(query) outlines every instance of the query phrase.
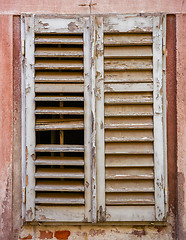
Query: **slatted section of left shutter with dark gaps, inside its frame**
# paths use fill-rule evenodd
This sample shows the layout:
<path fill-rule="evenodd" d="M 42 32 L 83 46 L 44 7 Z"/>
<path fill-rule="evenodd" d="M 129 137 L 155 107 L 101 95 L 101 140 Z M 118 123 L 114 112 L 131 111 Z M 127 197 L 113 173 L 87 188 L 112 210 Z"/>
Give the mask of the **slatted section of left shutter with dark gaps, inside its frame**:
<path fill-rule="evenodd" d="M 84 205 L 83 34 L 35 34 L 35 204 Z"/>

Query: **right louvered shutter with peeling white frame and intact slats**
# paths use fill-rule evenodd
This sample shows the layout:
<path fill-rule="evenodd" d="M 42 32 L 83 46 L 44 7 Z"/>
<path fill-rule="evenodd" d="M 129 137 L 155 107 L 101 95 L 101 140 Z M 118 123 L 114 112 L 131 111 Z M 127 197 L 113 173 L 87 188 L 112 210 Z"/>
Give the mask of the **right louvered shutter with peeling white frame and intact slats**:
<path fill-rule="evenodd" d="M 97 17 L 98 221 L 162 221 L 162 16 Z"/>

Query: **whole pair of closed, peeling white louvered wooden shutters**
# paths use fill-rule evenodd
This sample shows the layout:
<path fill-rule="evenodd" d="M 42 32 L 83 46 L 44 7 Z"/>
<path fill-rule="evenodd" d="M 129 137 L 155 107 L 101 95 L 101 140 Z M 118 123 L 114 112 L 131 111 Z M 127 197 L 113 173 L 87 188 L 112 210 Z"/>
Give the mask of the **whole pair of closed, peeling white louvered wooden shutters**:
<path fill-rule="evenodd" d="M 22 16 L 27 221 L 165 218 L 164 25 L 163 15 Z"/>

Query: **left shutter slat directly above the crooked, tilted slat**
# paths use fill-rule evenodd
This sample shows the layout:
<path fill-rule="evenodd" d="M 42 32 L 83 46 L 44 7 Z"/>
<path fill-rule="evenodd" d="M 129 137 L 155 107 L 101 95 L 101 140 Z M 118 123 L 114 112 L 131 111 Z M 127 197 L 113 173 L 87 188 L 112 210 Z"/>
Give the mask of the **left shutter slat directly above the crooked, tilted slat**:
<path fill-rule="evenodd" d="M 82 115 L 84 113 L 81 107 L 37 107 L 35 114 L 71 114 Z"/>

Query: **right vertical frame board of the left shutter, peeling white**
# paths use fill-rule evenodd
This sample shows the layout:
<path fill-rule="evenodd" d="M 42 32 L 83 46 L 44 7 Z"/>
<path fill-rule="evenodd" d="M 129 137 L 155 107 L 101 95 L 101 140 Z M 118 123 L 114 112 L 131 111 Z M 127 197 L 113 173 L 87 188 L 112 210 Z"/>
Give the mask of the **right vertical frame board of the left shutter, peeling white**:
<path fill-rule="evenodd" d="M 84 26 L 84 171 L 85 171 L 85 219 L 87 222 L 92 220 L 92 150 L 91 150 L 91 40 L 90 40 L 90 18 L 85 18 Z"/>

